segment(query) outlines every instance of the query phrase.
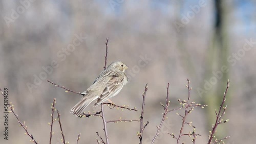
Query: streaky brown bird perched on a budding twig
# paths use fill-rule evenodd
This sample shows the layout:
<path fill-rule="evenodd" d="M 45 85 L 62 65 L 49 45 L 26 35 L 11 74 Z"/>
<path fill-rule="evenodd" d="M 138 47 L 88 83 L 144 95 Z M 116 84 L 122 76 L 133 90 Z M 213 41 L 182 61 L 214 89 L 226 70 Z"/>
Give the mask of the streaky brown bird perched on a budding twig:
<path fill-rule="evenodd" d="M 125 74 L 125 69 L 129 66 L 121 61 L 112 62 L 93 84 L 84 92 L 82 99 L 70 110 L 73 115 L 81 117 L 83 110 L 94 100 L 97 100 L 94 106 L 98 106 L 106 100 L 117 95 L 124 85 L 129 83 L 129 78 Z"/>

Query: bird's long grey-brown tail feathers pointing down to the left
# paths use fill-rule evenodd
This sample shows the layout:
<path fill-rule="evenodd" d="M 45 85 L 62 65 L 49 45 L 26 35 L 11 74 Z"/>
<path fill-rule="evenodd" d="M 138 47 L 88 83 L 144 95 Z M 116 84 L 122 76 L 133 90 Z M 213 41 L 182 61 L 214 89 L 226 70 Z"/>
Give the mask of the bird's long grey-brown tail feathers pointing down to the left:
<path fill-rule="evenodd" d="M 71 110 L 70 112 L 73 113 L 75 116 L 80 116 L 80 114 L 83 112 L 83 110 L 94 100 L 96 100 L 97 97 L 89 98 L 88 95 L 85 95 L 80 102 L 78 102 Z"/>

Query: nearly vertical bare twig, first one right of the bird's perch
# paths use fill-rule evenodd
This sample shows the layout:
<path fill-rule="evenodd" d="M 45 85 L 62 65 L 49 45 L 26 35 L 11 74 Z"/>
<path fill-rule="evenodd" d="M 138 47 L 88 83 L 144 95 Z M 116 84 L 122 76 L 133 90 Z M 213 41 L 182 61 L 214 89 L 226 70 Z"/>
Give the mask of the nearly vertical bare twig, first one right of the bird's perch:
<path fill-rule="evenodd" d="M 142 144 L 142 137 L 143 137 L 143 131 L 145 127 L 150 123 L 147 121 L 146 124 L 143 124 L 143 115 L 144 115 L 144 107 L 145 107 L 145 98 L 146 98 L 146 91 L 147 91 L 147 84 L 145 85 L 144 92 L 142 94 L 142 108 L 141 108 L 141 115 L 140 115 L 140 133 L 137 133 L 140 139 L 140 144 Z"/>

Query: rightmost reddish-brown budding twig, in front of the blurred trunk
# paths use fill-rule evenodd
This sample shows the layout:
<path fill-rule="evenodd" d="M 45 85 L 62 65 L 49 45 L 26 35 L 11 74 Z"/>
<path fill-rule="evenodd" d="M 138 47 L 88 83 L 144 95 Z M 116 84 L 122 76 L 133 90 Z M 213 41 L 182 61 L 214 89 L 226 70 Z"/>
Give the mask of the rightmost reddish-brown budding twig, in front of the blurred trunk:
<path fill-rule="evenodd" d="M 208 144 L 218 142 L 218 140 L 216 140 L 215 142 L 212 142 L 212 138 L 214 138 L 214 133 L 216 132 L 216 129 L 217 129 L 219 124 L 226 123 L 229 120 L 229 119 L 227 119 L 226 121 L 222 121 L 222 116 L 225 114 L 225 110 L 227 109 L 227 105 L 225 107 L 223 105 L 226 101 L 226 94 L 227 94 L 228 88 L 229 88 L 229 80 L 227 80 L 227 87 L 226 87 L 226 90 L 225 90 L 224 95 L 223 95 L 223 100 L 222 100 L 222 103 L 220 105 L 219 112 L 217 113 L 217 111 L 215 110 L 216 122 L 215 122 L 215 125 L 212 126 L 212 131 L 210 131 Z M 226 138 L 229 138 L 229 136 L 225 137 L 224 139 L 226 139 Z"/>

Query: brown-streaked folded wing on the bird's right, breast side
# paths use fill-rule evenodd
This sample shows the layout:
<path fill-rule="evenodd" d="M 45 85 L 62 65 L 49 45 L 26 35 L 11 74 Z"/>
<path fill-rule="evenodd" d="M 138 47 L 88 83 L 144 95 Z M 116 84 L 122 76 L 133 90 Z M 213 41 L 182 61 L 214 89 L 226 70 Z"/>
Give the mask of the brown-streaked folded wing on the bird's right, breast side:
<path fill-rule="evenodd" d="M 102 91 L 97 103 L 104 102 L 105 100 L 108 100 L 109 98 L 115 96 L 117 93 L 120 92 L 120 90 L 123 87 L 124 83 L 124 75 L 121 76 L 109 76 L 111 79 L 108 83 L 106 83 L 106 87 Z"/>

